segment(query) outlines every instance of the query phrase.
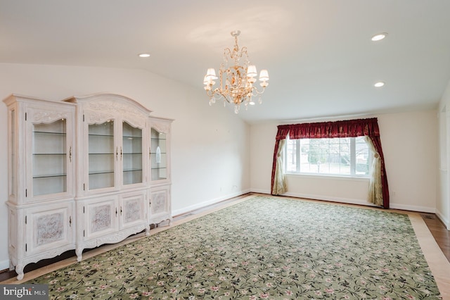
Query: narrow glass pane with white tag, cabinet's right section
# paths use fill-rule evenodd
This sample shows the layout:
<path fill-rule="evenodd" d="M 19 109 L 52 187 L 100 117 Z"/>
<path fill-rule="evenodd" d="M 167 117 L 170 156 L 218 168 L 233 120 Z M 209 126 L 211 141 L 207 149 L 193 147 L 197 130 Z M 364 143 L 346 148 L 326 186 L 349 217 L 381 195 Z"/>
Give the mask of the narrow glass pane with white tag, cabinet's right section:
<path fill-rule="evenodd" d="M 167 179 L 166 135 L 164 132 L 158 132 L 154 128 L 151 130 L 150 157 L 152 180 Z"/>

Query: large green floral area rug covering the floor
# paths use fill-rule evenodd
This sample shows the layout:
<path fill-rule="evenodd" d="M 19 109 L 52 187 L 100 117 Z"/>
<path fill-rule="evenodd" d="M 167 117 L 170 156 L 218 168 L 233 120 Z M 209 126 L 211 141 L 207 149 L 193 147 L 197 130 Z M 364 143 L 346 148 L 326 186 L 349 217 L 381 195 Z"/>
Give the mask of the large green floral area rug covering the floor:
<path fill-rule="evenodd" d="M 407 215 L 271 196 L 27 283 L 51 299 L 441 299 Z"/>

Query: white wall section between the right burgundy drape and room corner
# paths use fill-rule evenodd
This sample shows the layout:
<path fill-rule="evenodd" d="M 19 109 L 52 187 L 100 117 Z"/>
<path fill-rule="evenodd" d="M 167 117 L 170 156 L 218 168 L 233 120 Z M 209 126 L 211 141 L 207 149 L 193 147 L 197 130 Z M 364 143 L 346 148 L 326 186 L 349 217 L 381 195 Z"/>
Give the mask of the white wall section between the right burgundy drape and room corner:
<path fill-rule="evenodd" d="M 378 116 L 392 208 L 435 213 L 437 111 Z"/>

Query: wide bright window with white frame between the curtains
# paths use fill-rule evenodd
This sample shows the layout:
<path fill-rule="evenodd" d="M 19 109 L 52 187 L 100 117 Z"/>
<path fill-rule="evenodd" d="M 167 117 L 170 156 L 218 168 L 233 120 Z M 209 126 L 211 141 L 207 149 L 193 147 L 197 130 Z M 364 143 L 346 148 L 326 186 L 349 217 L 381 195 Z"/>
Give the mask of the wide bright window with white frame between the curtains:
<path fill-rule="evenodd" d="M 364 137 L 288 138 L 285 172 L 368 177 L 370 154 Z"/>

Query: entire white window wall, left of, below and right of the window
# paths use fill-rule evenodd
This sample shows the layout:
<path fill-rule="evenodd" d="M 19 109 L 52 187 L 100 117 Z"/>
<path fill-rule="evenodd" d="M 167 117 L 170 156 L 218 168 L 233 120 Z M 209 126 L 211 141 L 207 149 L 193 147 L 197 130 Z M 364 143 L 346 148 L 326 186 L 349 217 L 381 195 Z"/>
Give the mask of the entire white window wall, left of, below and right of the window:
<path fill-rule="evenodd" d="M 437 186 L 437 112 L 375 115 L 385 156 L 391 208 L 434 213 Z M 276 123 L 250 128 L 252 191 L 270 193 Z M 368 204 L 368 180 L 288 175 L 288 196 Z"/>

